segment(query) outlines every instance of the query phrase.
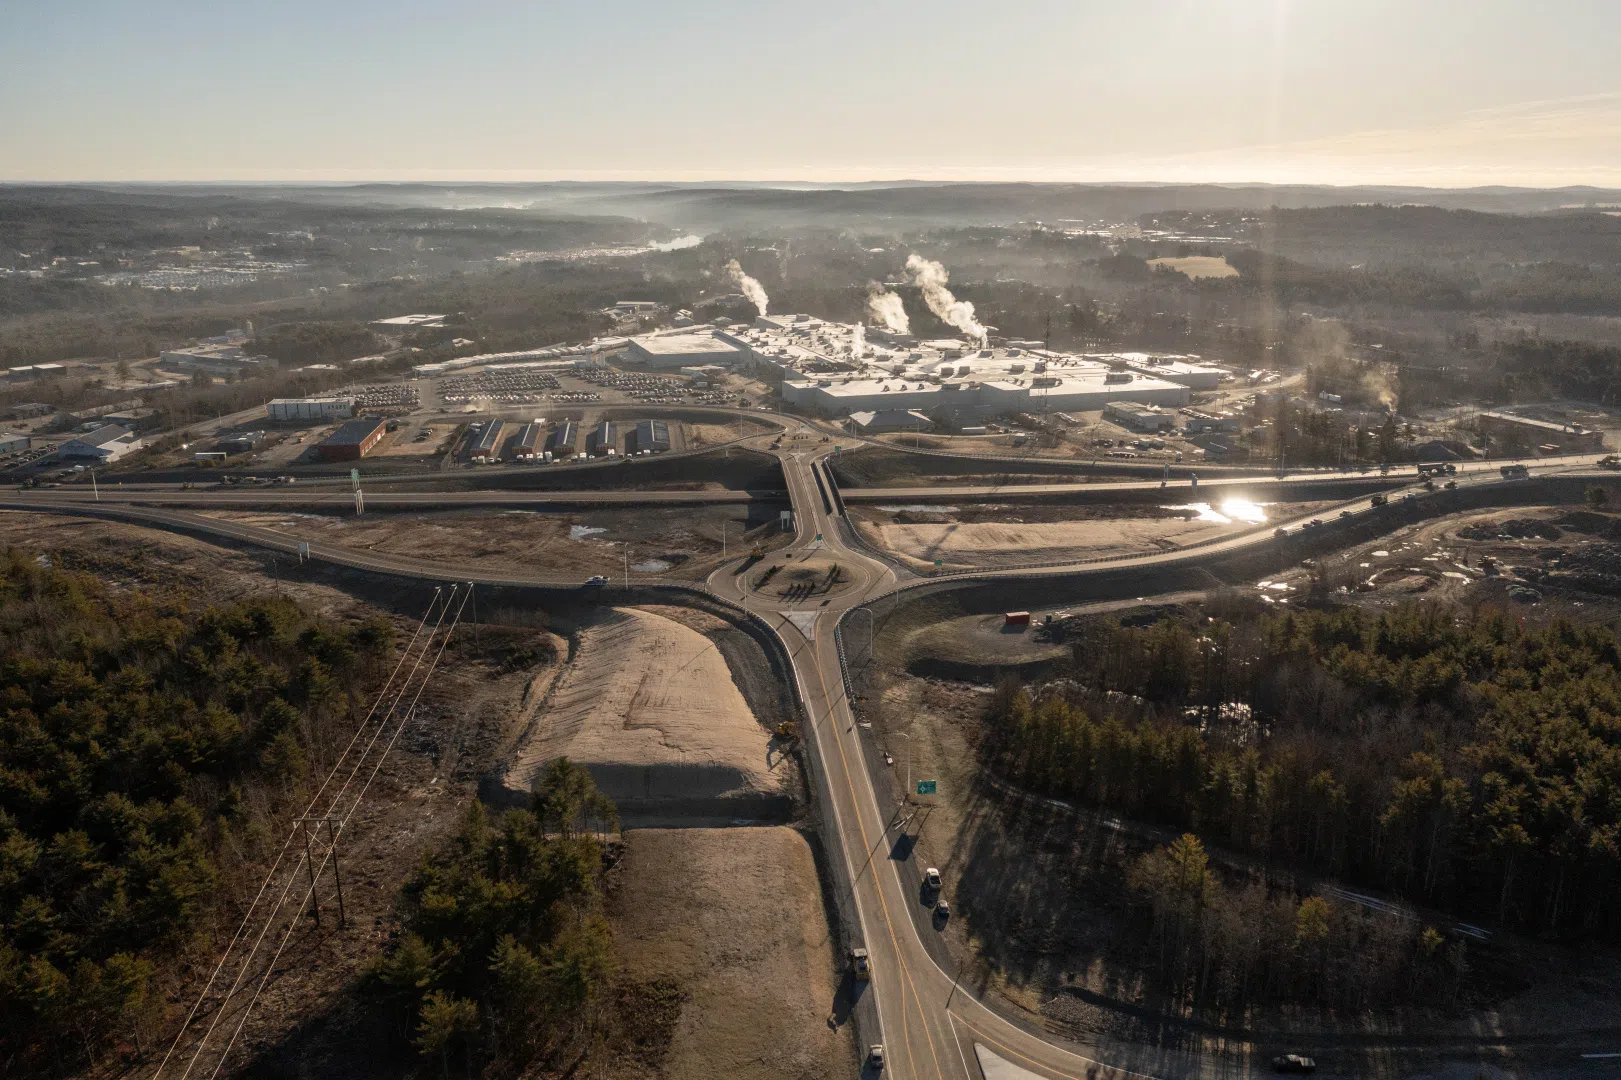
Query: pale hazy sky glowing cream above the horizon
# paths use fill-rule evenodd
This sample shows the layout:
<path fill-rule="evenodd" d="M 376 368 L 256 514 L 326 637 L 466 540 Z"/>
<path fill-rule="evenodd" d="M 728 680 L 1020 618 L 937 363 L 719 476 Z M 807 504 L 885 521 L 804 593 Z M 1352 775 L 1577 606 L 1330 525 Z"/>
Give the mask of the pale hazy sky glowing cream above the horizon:
<path fill-rule="evenodd" d="M 1621 186 L 1618 0 L 5 0 L 0 180 Z"/>

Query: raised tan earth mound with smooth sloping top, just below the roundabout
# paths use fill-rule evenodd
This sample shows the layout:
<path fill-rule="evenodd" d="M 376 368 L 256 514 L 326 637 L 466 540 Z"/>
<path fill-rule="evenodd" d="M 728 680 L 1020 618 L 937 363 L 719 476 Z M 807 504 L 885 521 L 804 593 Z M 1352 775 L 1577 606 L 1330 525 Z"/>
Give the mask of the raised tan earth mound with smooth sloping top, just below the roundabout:
<path fill-rule="evenodd" d="M 712 616 L 613 608 L 582 626 L 506 788 L 522 798 L 546 762 L 567 757 L 592 770 L 624 821 L 785 812 L 791 765 L 692 618 Z"/>

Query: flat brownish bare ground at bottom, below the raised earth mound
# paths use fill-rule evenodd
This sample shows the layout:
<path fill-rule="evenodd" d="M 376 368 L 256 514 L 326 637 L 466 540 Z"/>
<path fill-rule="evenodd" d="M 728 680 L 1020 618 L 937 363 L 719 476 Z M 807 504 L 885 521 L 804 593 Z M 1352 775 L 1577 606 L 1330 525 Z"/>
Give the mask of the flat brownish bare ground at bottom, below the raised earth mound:
<path fill-rule="evenodd" d="M 788 827 L 632 829 L 609 876 L 621 978 L 679 1010 L 613 1080 L 856 1075 L 810 845 Z"/>

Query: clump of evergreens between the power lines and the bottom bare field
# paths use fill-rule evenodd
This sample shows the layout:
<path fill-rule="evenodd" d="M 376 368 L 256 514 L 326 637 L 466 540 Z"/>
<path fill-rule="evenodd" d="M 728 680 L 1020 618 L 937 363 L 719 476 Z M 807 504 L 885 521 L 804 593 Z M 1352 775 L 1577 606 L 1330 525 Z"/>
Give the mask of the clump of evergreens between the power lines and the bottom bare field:
<path fill-rule="evenodd" d="M 478 801 L 400 897 L 404 934 L 373 966 L 400 1039 L 467 1075 L 527 1075 L 590 1048 L 611 979 L 601 913 L 613 803 L 553 761 L 528 809 Z M 548 1074 L 550 1075 L 550 1074 Z"/>

